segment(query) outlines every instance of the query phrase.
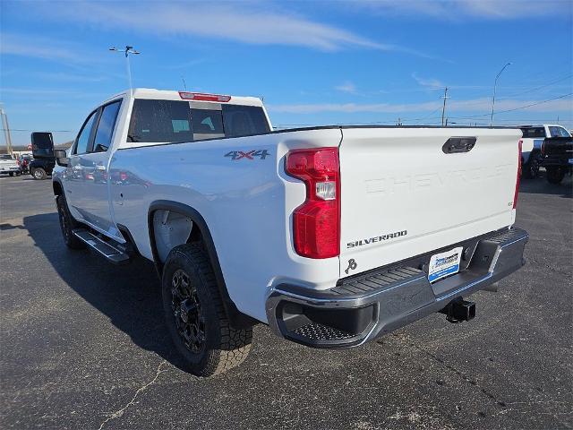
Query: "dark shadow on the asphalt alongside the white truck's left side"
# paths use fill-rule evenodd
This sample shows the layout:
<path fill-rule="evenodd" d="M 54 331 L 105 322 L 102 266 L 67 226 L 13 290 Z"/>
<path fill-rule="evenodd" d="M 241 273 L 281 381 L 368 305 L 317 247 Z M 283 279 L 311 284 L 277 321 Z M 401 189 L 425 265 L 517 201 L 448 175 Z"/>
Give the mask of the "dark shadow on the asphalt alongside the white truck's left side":
<path fill-rule="evenodd" d="M 106 314 L 136 345 L 183 368 L 164 322 L 160 282 L 151 262 L 138 257 L 115 266 L 88 250 L 68 249 L 61 238 L 57 213 L 26 217 L 23 224 L 70 288 Z"/>

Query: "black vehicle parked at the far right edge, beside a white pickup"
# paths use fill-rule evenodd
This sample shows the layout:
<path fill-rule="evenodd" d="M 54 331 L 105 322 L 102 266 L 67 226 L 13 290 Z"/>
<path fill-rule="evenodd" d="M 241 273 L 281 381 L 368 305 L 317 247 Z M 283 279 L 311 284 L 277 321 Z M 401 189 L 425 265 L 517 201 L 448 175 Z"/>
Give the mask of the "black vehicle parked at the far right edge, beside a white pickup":
<path fill-rule="evenodd" d="M 573 168 L 573 138 L 548 137 L 541 147 L 541 165 L 547 171 L 547 181 L 550 184 L 560 184 L 567 173 Z"/>

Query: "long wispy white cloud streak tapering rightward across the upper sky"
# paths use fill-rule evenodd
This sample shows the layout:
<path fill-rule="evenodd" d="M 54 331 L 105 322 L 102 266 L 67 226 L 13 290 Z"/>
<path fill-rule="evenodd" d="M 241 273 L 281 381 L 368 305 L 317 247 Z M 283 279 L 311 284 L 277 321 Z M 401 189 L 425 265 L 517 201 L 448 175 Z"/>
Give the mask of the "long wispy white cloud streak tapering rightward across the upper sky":
<path fill-rule="evenodd" d="M 249 2 L 201 4 L 151 1 L 74 2 L 70 7 L 70 3 L 64 2 L 50 3 L 49 7 L 44 5 L 41 14 L 45 18 L 75 24 L 90 23 L 98 29 L 121 28 L 159 36 L 198 36 L 323 51 L 363 47 L 430 57 L 415 49 L 382 43 L 335 26 L 313 22 L 277 7 L 269 3 L 253 5 Z"/>

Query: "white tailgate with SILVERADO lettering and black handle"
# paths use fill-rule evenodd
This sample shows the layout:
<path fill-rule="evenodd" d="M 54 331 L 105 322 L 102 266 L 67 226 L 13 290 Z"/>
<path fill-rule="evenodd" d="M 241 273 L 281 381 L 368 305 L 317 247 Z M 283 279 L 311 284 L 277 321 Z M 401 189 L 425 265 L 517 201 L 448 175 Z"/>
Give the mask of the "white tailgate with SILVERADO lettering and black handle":
<path fill-rule="evenodd" d="M 358 127 L 342 134 L 341 277 L 513 224 L 519 130 Z M 470 139 L 449 141 L 459 137 Z"/>

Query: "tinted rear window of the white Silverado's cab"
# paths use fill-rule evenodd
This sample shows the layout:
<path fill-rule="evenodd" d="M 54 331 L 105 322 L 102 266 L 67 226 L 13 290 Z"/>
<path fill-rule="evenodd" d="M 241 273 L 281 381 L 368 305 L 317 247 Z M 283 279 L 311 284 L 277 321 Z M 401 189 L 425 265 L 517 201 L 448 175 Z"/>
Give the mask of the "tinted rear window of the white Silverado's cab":
<path fill-rule="evenodd" d="M 261 107 L 135 99 L 127 142 L 193 142 L 269 131 Z"/>

